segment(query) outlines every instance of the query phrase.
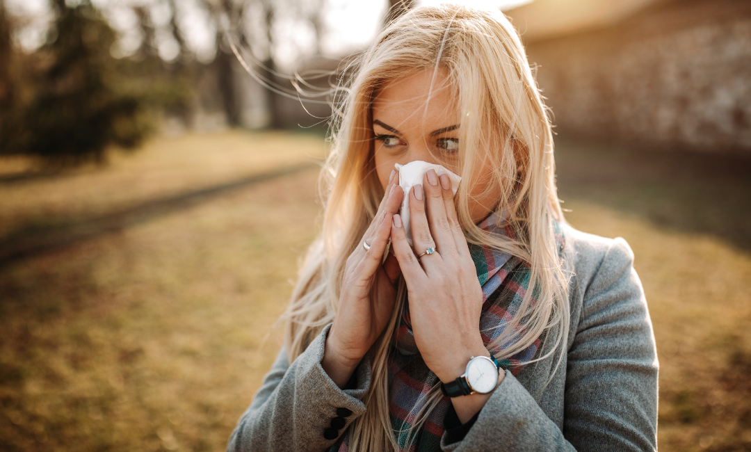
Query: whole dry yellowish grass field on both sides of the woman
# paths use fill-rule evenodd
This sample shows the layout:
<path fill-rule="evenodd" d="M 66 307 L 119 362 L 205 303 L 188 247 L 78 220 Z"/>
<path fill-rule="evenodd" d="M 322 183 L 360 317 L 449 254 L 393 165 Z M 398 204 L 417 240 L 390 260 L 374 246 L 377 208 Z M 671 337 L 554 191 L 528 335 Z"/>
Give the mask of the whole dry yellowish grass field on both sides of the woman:
<path fill-rule="evenodd" d="M 53 175 L 0 161 L 0 450 L 223 450 L 281 343 L 323 152 L 231 131 Z M 634 249 L 661 450 L 751 450 L 749 168 L 559 146 L 569 221 Z"/>

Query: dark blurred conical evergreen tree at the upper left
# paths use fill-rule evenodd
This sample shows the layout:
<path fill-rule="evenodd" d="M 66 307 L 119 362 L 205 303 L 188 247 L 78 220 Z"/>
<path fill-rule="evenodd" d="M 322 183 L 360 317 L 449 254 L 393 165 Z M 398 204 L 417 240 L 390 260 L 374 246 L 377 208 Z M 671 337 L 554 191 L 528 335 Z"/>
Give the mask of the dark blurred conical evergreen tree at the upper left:
<path fill-rule="evenodd" d="M 115 35 L 91 3 L 68 7 L 54 0 L 53 7 L 56 38 L 37 52 L 44 66 L 32 77 L 35 94 L 4 122 L 0 136 L 8 140 L 0 153 L 48 164 L 101 162 L 108 146 L 132 148 L 149 131 L 143 99 L 117 86 L 110 56 Z"/>

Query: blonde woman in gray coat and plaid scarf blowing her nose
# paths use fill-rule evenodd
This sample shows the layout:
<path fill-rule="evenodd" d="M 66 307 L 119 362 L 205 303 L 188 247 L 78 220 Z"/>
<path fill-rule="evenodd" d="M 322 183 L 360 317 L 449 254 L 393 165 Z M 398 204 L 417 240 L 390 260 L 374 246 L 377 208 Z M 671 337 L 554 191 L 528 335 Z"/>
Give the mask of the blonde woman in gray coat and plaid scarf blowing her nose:
<path fill-rule="evenodd" d="M 565 224 L 550 121 L 501 13 L 392 23 L 334 137 L 285 346 L 228 450 L 656 449 L 632 252 Z M 403 192 L 411 161 L 459 174 L 457 194 L 433 170 Z"/>

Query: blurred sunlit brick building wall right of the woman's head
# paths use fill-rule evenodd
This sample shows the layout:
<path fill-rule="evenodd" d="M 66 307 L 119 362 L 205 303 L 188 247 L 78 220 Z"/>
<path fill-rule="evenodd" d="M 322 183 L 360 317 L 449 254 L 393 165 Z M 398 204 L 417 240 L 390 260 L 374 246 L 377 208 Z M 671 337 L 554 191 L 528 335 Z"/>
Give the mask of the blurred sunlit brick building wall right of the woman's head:
<path fill-rule="evenodd" d="M 751 155 L 751 2 L 671 2 L 526 44 L 562 136 Z"/>

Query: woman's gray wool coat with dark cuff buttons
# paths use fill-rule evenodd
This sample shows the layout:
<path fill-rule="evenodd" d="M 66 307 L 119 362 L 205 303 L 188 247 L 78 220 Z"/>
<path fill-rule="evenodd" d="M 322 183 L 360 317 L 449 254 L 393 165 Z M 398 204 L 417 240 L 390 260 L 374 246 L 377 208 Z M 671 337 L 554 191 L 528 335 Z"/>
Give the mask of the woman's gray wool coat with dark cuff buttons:
<path fill-rule="evenodd" d="M 634 255 L 621 238 L 564 233 L 574 274 L 562 362 L 556 369 L 553 353 L 516 376 L 507 371 L 463 440 L 446 444 L 444 435 L 443 450 L 656 450 L 657 352 Z M 321 367 L 328 329 L 294 363 L 279 351 L 228 450 L 326 450 L 337 408 L 351 411 L 340 433 L 365 412 L 370 362 L 357 367 L 356 389 L 339 389 Z"/>

